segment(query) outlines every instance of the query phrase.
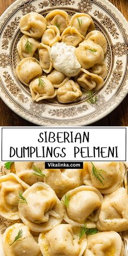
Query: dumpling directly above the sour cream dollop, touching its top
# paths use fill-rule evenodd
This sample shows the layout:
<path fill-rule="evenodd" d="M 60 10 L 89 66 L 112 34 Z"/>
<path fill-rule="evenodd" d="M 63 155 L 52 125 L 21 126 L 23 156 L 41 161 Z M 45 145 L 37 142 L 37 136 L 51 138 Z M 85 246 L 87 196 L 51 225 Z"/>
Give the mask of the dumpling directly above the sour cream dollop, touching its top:
<path fill-rule="evenodd" d="M 74 27 L 66 28 L 62 35 L 62 42 L 65 42 L 68 46 L 78 46 L 85 37 Z"/>

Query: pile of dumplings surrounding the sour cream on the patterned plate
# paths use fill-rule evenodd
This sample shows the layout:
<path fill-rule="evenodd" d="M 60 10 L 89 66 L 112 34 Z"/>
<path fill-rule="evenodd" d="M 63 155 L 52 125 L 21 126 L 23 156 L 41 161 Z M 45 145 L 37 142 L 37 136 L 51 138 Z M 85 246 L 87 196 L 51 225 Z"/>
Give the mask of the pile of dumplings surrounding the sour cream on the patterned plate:
<path fill-rule="evenodd" d="M 56 97 L 62 104 L 71 103 L 81 97 L 83 90 L 97 92 L 103 87 L 107 41 L 95 30 L 91 16 L 75 13 L 70 17 L 63 10 L 50 11 L 46 17 L 30 12 L 21 18 L 20 29 L 24 35 L 17 44 L 21 61 L 16 74 L 22 84 L 29 86 L 34 101 Z M 79 65 L 75 75 L 65 74 L 68 63 L 61 56 L 59 63 L 64 69 L 54 65 L 50 53 L 57 44 L 72 47 Z M 70 60 L 74 60 L 72 55 Z"/>

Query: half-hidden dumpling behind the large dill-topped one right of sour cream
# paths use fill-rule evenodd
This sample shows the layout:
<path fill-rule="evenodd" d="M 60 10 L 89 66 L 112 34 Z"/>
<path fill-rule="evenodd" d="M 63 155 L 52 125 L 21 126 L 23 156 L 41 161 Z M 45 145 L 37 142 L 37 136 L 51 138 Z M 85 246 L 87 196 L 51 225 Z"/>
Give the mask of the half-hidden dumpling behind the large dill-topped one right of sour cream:
<path fill-rule="evenodd" d="M 107 52 L 107 41 L 106 41 L 106 38 L 103 35 L 103 33 L 101 33 L 98 30 L 93 30 L 93 31 L 89 32 L 86 35 L 85 40 L 87 40 L 87 39 L 93 41 L 94 43 L 99 44 L 99 46 L 101 46 L 103 48 L 104 54 L 106 54 L 106 52 Z"/>

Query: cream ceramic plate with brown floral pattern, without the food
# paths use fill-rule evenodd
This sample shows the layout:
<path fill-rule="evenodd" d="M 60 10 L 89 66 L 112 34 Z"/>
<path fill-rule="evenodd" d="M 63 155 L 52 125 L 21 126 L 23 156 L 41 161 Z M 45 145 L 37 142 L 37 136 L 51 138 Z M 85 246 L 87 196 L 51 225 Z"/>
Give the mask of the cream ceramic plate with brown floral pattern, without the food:
<path fill-rule="evenodd" d="M 17 42 L 21 33 L 20 18 L 28 12 L 47 14 L 53 9 L 62 9 L 73 15 L 86 12 L 92 16 L 96 29 L 107 39 L 105 61 L 108 75 L 104 87 L 97 93 L 97 104 L 89 104 L 82 94 L 72 104 L 60 104 L 56 100 L 34 103 L 27 87 L 17 79 L 15 68 L 18 62 Z M 1 16 L 0 39 L 0 95 L 4 103 L 19 116 L 37 125 L 74 126 L 88 125 L 114 110 L 125 98 L 128 63 L 128 29 L 123 15 L 107 0 L 17 0 Z"/>

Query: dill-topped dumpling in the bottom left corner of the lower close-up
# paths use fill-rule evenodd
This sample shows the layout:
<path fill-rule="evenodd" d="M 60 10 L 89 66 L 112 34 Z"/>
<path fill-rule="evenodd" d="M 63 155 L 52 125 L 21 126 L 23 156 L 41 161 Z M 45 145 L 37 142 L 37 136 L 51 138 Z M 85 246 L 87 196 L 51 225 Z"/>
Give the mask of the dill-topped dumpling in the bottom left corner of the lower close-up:
<path fill-rule="evenodd" d="M 14 242 L 14 239 L 21 237 Z M 14 243 L 13 243 L 14 242 Z M 13 244 L 12 244 L 13 243 Z M 40 247 L 31 235 L 29 228 L 23 223 L 15 223 L 8 227 L 3 234 L 3 248 L 7 256 L 41 256 Z"/>

